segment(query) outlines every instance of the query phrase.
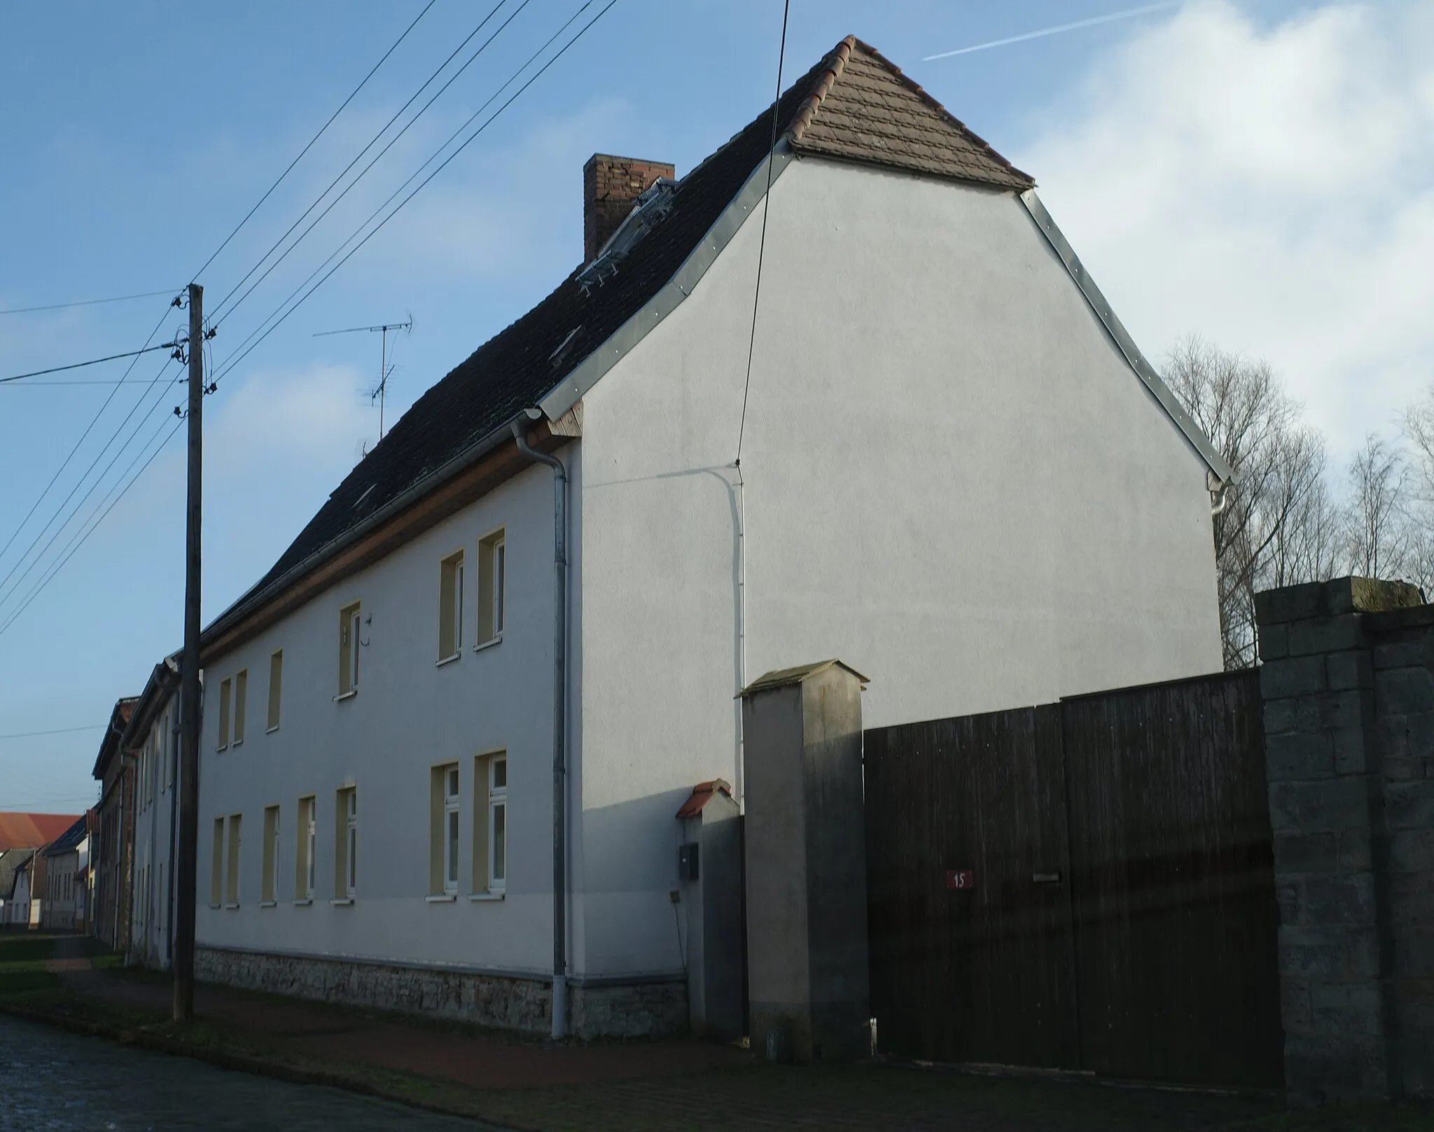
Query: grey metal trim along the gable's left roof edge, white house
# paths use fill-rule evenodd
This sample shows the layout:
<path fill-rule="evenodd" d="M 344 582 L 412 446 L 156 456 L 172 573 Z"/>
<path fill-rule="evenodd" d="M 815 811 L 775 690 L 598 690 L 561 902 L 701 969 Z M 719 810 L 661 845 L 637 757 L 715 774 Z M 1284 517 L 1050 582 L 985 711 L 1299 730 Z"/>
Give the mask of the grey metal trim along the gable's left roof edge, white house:
<path fill-rule="evenodd" d="M 792 145 L 786 138 L 779 139 L 776 149 L 761 159 L 673 278 L 637 314 L 612 331 L 602 345 L 588 354 L 548 395 L 538 401 L 538 407 L 548 414 L 549 420 L 558 420 L 572 408 L 588 390 L 602 380 L 608 370 L 648 335 L 648 331 L 661 324 L 683 304 L 683 299 L 693 294 L 707 269 L 717 262 L 717 256 L 723 254 L 747 218 L 753 215 L 757 202 L 767 195 L 769 162 L 773 163 L 771 183 L 776 185 L 777 178 L 782 176 L 792 159 Z"/>

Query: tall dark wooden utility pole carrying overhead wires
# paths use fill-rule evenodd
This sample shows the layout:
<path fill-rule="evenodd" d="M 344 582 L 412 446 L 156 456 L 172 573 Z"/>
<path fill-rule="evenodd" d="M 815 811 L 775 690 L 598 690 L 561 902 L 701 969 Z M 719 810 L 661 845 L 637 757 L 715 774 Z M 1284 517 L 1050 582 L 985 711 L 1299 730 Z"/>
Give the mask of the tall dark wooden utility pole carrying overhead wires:
<path fill-rule="evenodd" d="M 194 906 L 199 853 L 199 520 L 204 500 L 204 288 L 189 284 L 189 497 L 185 512 L 184 662 L 179 666 L 179 860 L 175 1022 L 194 1017 Z"/>

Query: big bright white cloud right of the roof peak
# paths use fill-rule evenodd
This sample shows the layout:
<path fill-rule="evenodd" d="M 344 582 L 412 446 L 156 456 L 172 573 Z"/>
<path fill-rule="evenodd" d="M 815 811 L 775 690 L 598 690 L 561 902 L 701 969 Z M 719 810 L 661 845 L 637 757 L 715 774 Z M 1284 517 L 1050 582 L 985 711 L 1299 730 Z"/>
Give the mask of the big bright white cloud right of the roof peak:
<path fill-rule="evenodd" d="M 1200 0 L 1050 107 L 1017 163 L 1153 357 L 1269 360 L 1347 454 L 1434 377 L 1434 11 L 1260 26 Z"/>

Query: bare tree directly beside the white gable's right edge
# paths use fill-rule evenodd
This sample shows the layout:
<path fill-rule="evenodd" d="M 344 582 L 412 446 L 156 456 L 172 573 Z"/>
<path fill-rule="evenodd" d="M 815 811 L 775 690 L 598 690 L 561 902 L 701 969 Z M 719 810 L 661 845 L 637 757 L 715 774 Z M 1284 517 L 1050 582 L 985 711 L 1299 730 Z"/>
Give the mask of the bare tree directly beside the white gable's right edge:
<path fill-rule="evenodd" d="M 1172 391 L 1235 470 L 1215 516 L 1226 668 L 1255 663 L 1255 592 L 1332 577 L 1342 523 L 1325 449 L 1271 367 L 1187 337 L 1166 365 Z"/>

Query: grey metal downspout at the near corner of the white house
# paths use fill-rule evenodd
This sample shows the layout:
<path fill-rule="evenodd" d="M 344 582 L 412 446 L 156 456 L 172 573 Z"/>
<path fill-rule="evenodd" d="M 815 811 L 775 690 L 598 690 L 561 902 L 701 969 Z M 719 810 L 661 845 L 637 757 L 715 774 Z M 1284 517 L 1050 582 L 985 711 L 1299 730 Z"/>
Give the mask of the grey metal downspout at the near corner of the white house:
<path fill-rule="evenodd" d="M 512 427 L 518 451 L 552 469 L 552 560 L 556 575 L 552 632 L 552 1036 L 559 1039 L 566 1035 L 568 1022 L 568 473 L 556 456 L 528 444 L 522 420 L 515 420 Z"/>

